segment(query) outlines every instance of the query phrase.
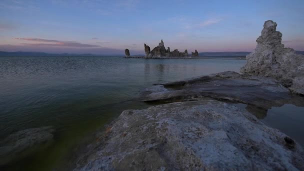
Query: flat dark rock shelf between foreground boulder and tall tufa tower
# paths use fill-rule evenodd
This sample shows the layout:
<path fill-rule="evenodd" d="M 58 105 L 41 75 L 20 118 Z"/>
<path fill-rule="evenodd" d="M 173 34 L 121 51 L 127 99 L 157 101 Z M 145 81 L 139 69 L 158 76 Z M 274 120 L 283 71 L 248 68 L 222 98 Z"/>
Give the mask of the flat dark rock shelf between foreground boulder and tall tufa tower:
<path fill-rule="evenodd" d="M 206 97 L 248 104 L 248 107 L 265 113 L 272 106 L 286 103 L 304 106 L 303 97 L 290 94 L 286 87 L 273 78 L 242 75 L 232 71 L 146 88 L 140 99 L 146 102 L 175 102 Z"/>

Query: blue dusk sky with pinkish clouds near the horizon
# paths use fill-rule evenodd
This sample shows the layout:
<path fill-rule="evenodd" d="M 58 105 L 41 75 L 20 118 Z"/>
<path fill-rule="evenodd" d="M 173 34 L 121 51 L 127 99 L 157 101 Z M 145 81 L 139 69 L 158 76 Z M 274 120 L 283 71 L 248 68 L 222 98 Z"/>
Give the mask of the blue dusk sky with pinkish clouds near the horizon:
<path fill-rule="evenodd" d="M 251 51 L 265 20 L 304 50 L 304 0 L 0 0 L 0 50 L 143 54 Z"/>

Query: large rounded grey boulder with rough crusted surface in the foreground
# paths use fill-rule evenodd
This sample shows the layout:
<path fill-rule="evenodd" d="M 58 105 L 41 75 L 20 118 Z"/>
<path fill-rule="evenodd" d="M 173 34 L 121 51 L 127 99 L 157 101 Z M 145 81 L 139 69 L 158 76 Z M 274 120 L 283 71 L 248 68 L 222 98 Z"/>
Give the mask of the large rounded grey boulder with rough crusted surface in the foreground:
<path fill-rule="evenodd" d="M 125 110 L 99 140 L 75 170 L 304 169 L 291 138 L 216 100 Z"/>

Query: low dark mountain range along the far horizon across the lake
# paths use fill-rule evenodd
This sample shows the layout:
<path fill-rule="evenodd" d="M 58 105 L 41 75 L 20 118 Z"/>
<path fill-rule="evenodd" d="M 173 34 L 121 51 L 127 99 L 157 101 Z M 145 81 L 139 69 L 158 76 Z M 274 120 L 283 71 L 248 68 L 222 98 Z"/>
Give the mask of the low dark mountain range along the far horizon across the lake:
<path fill-rule="evenodd" d="M 215 56 L 245 56 L 249 54 L 248 51 L 219 51 L 219 52 L 199 52 L 199 56 L 208 56 L 208 57 L 215 57 Z M 296 51 L 296 53 L 304 54 L 304 51 Z M 102 55 L 102 54 L 72 54 L 72 53 L 45 53 L 45 52 L 36 52 L 36 51 L 15 51 L 15 52 L 8 52 L 8 51 L 0 51 L 0 56 L 123 56 L 122 54 L 112 54 L 112 55 Z"/>

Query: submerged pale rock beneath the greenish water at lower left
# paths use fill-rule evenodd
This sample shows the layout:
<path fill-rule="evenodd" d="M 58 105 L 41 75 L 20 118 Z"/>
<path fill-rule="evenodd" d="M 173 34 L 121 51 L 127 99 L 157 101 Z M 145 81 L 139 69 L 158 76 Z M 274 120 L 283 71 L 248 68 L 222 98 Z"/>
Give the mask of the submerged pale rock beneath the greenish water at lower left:
<path fill-rule="evenodd" d="M 18 157 L 22 152 L 32 152 L 35 147 L 50 142 L 53 138 L 51 126 L 30 128 L 10 134 L 0 141 L 0 165 Z"/>

